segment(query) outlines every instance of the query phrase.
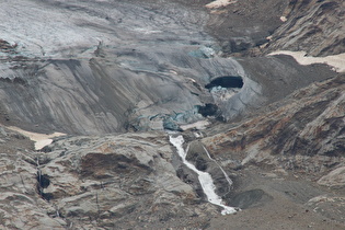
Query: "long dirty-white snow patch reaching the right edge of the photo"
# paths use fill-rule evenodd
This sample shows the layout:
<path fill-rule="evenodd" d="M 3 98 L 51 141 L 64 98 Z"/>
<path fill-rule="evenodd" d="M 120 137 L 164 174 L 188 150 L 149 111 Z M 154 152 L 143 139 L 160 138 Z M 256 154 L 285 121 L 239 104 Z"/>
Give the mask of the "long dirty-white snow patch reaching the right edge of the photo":
<path fill-rule="evenodd" d="M 336 72 L 345 72 L 345 53 L 340 55 L 331 55 L 326 57 L 311 57 L 307 56 L 306 51 L 288 51 L 288 50 L 277 50 L 271 53 L 271 55 L 289 55 L 296 59 L 300 65 L 311 65 L 311 64 L 326 64 Z"/>

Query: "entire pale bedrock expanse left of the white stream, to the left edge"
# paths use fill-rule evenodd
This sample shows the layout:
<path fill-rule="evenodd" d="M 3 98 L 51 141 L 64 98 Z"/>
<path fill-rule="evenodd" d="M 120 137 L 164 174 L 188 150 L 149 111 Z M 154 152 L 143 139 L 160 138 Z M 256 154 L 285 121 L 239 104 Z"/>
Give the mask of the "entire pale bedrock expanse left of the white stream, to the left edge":
<path fill-rule="evenodd" d="M 195 192 L 193 173 L 184 170 L 177 177 L 183 166 L 175 158 L 164 134 L 60 137 L 45 152 L 1 153 L 0 225 L 204 228 L 219 210 Z"/>

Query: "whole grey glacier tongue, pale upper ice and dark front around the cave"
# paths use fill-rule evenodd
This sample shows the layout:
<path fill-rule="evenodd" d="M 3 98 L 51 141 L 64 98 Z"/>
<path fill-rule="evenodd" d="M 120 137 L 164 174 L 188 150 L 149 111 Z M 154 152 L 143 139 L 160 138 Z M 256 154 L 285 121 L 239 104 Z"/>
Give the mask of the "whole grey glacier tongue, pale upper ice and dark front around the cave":
<path fill-rule="evenodd" d="M 0 28 L 5 125 L 89 135 L 181 130 L 208 123 L 199 106 L 214 104 L 229 119 L 260 93 L 235 59 L 216 54 L 216 41 L 200 30 L 203 10 L 120 1 L 0 5 L 8 19 Z M 244 76 L 241 101 L 205 89 L 219 76 Z"/>

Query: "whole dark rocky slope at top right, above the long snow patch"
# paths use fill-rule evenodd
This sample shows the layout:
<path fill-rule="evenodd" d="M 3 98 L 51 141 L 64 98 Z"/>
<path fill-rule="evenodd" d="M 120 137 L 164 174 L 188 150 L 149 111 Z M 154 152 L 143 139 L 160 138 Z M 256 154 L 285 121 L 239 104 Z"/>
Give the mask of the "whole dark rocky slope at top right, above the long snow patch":
<path fill-rule="evenodd" d="M 342 0 L 242 0 L 211 10 L 208 30 L 226 55 L 277 49 L 336 55 L 345 51 L 344 9 Z"/>

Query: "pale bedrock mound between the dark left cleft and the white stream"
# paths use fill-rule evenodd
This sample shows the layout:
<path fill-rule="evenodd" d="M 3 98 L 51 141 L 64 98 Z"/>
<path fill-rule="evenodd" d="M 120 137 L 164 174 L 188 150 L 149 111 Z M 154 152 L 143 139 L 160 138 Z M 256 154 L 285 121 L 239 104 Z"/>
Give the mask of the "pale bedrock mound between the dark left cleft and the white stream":
<path fill-rule="evenodd" d="M 165 135 L 77 137 L 50 148 L 42 156 L 51 158 L 41 165 L 49 180 L 42 196 L 74 228 L 203 226 L 197 222 L 217 210 L 176 176 Z M 186 216 L 187 222 L 175 221 Z"/>

